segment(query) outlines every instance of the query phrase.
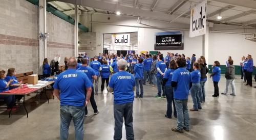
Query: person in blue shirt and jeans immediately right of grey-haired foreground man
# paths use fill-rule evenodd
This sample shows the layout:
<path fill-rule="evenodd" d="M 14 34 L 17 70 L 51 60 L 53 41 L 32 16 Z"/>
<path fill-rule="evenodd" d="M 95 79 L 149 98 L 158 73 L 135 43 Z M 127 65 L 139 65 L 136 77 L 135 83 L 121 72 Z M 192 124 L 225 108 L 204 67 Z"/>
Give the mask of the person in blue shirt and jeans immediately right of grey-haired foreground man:
<path fill-rule="evenodd" d="M 143 98 L 143 59 L 138 60 L 138 64 L 134 66 L 134 75 L 136 81 L 136 98 Z"/>

